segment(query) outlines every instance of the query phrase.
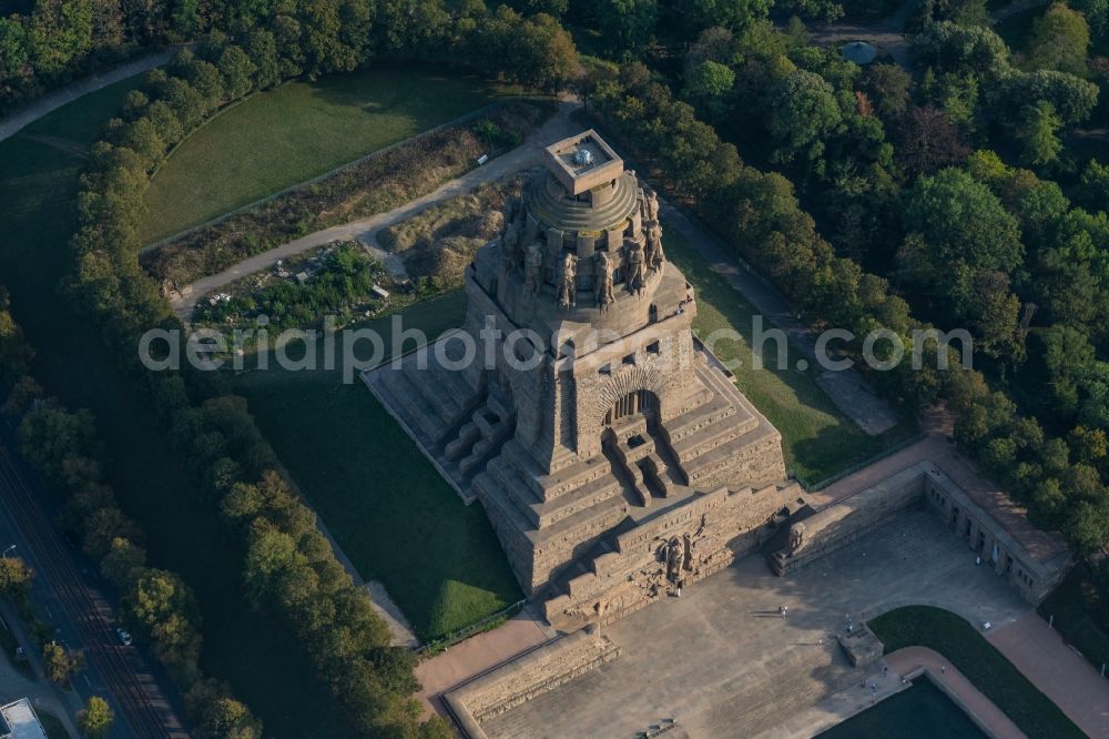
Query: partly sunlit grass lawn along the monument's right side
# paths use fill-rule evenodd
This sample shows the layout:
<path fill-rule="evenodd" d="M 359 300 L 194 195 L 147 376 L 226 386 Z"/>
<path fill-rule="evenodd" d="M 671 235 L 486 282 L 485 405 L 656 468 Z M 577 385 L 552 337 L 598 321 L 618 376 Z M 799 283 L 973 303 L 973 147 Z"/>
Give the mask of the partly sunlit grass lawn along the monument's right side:
<path fill-rule="evenodd" d="M 820 388 L 814 370 L 772 368 L 772 360 L 766 367 L 755 370 L 750 361 L 754 307 L 713 272 L 680 233 L 668 231 L 665 224 L 663 233 L 667 256 L 681 267 L 696 291 L 693 331 L 704 337 L 721 328 L 733 328 L 743 336 L 743 342 L 719 342 L 713 348 L 722 360 L 743 362 L 733 371 L 736 385 L 782 433 L 786 467 L 805 483 L 831 477 L 916 432 L 915 424 L 907 421 L 884 434 L 868 436 Z M 764 328 L 771 326 L 764 324 Z"/>

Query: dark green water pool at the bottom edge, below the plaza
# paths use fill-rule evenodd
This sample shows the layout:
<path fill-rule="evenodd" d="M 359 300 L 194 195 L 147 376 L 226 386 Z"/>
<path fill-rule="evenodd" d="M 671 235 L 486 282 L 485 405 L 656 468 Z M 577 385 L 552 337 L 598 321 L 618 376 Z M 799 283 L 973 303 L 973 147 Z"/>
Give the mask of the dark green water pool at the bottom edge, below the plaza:
<path fill-rule="evenodd" d="M 820 739 L 985 739 L 970 717 L 927 679 L 886 698 L 843 723 L 817 735 Z"/>

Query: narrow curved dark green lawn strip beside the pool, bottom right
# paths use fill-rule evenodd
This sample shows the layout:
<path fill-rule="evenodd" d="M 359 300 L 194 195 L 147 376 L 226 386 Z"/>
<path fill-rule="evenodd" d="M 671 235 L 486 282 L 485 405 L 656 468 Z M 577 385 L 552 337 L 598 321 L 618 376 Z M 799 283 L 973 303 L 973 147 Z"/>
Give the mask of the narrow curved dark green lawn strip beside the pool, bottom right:
<path fill-rule="evenodd" d="M 955 614 L 930 606 L 908 606 L 883 614 L 869 626 L 885 644 L 886 654 L 922 646 L 949 659 L 1029 737 L 1086 736 L 1013 662 Z"/>

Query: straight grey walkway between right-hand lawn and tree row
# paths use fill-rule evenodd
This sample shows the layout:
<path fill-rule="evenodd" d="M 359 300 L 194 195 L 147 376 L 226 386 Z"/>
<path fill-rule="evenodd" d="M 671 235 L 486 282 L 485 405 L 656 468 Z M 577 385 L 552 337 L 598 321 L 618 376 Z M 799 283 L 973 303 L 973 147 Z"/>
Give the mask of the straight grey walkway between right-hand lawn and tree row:
<path fill-rule="evenodd" d="M 679 232 L 685 241 L 709 263 L 712 271 L 728 283 L 773 324 L 788 334 L 811 363 L 816 362 L 816 337 L 803 321 L 797 318 L 793 306 L 779 293 L 754 274 L 746 265 L 739 263 L 716 239 L 684 213 L 661 200 L 661 213 L 668 229 Z M 846 372 L 823 372 L 816 384 L 827 394 L 840 411 L 858 424 L 867 434 L 881 434 L 893 428 L 901 421 L 889 405 L 878 397 L 863 376 L 855 370 Z"/>

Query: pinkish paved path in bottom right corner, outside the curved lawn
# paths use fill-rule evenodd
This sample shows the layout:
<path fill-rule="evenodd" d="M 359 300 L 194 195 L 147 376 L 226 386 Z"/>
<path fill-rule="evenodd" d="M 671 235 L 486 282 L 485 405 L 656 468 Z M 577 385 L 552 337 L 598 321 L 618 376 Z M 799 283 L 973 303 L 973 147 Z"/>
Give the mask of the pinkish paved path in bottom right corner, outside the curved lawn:
<path fill-rule="evenodd" d="M 1109 680 L 1047 621 L 1028 614 L 986 638 L 1082 731 L 1092 739 L 1109 739 Z"/>

